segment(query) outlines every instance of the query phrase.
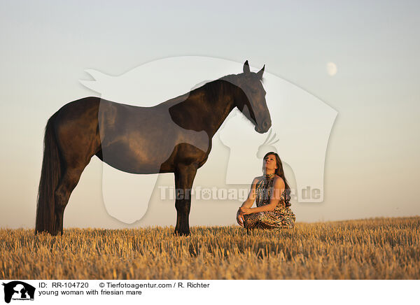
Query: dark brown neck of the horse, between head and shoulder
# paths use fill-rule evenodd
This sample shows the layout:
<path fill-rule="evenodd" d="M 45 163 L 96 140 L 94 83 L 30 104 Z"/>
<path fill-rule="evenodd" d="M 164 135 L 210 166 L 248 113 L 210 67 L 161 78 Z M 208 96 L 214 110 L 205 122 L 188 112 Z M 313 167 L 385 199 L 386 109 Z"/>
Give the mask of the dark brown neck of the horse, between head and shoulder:
<path fill-rule="evenodd" d="M 228 80 L 214 80 L 190 92 L 187 99 L 171 106 L 169 113 L 180 127 L 204 130 L 213 137 L 235 108 L 235 90 Z"/>

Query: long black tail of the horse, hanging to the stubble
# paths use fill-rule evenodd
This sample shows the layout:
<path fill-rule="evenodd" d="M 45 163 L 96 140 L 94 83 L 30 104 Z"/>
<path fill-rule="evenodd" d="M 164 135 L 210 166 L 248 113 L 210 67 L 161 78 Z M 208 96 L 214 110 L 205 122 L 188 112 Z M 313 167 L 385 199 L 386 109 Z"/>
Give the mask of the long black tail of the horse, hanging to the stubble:
<path fill-rule="evenodd" d="M 41 179 L 38 188 L 35 224 L 36 233 L 45 231 L 53 235 L 57 234 L 55 225 L 54 193 L 62 171 L 54 127 L 56 116 L 57 113 L 52 115 L 45 127 L 43 160 Z"/>

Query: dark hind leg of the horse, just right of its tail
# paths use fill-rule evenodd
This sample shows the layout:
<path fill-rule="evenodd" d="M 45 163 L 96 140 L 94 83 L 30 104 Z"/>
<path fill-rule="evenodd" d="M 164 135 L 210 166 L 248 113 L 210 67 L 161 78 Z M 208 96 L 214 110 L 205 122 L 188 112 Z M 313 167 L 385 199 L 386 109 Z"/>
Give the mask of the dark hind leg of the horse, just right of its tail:
<path fill-rule="evenodd" d="M 86 165 L 87 164 L 85 164 L 85 166 Z M 55 232 L 57 233 L 63 233 L 64 209 L 69 202 L 70 194 L 76 187 L 85 166 L 67 168 L 55 190 Z"/>

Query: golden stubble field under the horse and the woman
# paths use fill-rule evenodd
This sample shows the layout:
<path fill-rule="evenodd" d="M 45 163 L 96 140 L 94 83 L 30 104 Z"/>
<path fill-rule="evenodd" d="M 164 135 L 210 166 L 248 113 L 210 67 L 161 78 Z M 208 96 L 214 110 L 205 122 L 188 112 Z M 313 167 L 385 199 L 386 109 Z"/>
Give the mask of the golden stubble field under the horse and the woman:
<path fill-rule="evenodd" d="M 2 279 L 419 279 L 420 217 L 238 226 L 0 229 Z"/>

